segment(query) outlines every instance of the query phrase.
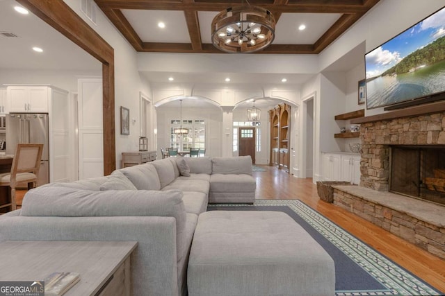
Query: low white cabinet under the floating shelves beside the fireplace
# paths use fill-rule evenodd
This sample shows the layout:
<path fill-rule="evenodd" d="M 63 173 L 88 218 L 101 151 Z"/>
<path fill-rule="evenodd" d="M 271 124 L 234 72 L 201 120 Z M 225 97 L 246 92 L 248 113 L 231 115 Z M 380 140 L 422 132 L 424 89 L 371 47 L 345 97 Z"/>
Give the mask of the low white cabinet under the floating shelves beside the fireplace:
<path fill-rule="evenodd" d="M 323 181 L 360 183 L 360 155 L 323 153 Z"/>

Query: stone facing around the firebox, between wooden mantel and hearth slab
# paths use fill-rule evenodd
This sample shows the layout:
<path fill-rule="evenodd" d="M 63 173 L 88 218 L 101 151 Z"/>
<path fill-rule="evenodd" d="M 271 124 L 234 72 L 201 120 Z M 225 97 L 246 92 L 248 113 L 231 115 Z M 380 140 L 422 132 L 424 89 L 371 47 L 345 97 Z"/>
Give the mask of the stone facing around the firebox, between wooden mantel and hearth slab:
<path fill-rule="evenodd" d="M 389 145 L 445 144 L 445 112 L 364 123 L 360 186 L 389 189 Z"/>

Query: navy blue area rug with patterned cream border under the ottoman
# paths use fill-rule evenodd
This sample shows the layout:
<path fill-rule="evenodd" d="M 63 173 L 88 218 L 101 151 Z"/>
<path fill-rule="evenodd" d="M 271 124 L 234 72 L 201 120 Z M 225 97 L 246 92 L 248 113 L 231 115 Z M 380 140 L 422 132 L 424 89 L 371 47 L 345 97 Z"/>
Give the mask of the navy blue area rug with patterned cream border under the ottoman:
<path fill-rule="evenodd" d="M 253 205 L 209 204 L 208 210 L 289 214 L 334 259 L 337 296 L 444 295 L 300 200 L 257 200 Z"/>

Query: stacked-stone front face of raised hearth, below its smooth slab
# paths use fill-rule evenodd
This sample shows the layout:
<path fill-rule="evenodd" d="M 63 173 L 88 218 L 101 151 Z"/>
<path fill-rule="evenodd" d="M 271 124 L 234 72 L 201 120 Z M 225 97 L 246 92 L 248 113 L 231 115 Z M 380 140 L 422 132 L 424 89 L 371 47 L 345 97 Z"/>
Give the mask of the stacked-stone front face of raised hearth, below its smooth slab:
<path fill-rule="evenodd" d="M 445 259 L 445 228 L 334 189 L 334 204 Z"/>

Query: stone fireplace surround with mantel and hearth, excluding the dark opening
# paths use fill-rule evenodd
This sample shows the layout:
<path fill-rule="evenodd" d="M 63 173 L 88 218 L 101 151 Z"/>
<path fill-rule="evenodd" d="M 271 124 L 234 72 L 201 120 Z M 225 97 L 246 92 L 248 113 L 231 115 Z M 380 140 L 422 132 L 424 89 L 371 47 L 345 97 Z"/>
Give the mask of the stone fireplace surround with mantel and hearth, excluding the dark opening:
<path fill-rule="evenodd" d="M 369 116 L 359 186 L 334 186 L 334 204 L 445 259 L 445 207 L 389 193 L 390 145 L 445 145 L 445 103 Z"/>

